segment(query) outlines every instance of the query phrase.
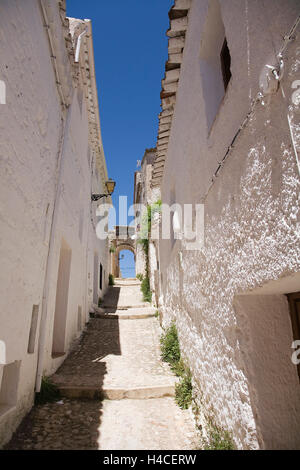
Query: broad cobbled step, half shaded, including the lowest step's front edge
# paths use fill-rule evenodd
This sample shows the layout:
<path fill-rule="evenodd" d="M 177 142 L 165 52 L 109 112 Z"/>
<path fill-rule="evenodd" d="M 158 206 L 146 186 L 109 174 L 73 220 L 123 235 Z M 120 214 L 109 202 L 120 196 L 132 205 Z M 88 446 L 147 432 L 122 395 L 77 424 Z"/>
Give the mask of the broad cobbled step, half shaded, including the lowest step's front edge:
<path fill-rule="evenodd" d="M 52 381 L 74 398 L 174 394 L 177 379 L 161 360 L 160 335 L 156 318 L 91 319 Z"/>

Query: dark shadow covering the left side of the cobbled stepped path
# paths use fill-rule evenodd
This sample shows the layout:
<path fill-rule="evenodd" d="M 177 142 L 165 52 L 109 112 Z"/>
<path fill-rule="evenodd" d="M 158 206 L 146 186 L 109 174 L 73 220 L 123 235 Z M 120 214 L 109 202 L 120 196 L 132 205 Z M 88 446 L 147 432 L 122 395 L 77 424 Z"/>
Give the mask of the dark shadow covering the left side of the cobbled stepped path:
<path fill-rule="evenodd" d="M 115 310 L 120 288 L 111 288 L 108 299 Z M 107 373 L 107 355 L 121 355 L 119 321 L 92 318 L 80 341 L 52 381 L 58 387 L 96 388 L 100 393 Z M 101 362 L 102 361 L 102 362 Z M 5 450 L 99 449 L 101 399 L 64 398 L 36 405 L 25 417 Z"/>

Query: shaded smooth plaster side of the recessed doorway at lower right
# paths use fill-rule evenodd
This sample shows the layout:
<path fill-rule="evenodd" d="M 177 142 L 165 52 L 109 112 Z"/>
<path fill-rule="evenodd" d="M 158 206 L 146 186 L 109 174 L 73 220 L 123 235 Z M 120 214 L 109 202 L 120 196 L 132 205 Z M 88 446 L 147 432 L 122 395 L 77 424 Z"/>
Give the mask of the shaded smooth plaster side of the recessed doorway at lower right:
<path fill-rule="evenodd" d="M 287 298 L 243 295 L 235 299 L 234 307 L 260 443 L 269 449 L 299 448 L 300 387 L 291 361 L 293 334 Z"/>

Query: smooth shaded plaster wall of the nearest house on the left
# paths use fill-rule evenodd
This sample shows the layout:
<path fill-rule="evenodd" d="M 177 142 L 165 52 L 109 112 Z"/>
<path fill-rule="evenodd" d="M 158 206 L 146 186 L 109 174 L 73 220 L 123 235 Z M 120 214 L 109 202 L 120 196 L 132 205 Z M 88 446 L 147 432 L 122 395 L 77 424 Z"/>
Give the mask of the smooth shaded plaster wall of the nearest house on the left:
<path fill-rule="evenodd" d="M 0 422 L 0 443 L 32 403 L 37 341 L 34 354 L 27 354 L 27 346 L 32 307 L 41 306 L 42 300 L 61 132 L 37 2 L 5 1 L 2 7 L 0 76 L 6 83 L 7 104 L 0 113 L 0 335 L 6 343 L 6 362 L 22 364 L 18 404 Z"/>

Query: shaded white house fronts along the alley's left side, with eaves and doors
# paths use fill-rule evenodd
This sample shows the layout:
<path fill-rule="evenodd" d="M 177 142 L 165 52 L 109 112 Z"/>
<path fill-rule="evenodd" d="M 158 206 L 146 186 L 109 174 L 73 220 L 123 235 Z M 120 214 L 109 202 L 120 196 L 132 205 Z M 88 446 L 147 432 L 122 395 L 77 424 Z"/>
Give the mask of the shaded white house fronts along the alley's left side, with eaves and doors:
<path fill-rule="evenodd" d="M 108 179 L 92 28 L 65 1 L 0 15 L 0 445 L 61 365 L 108 284 L 96 202 Z"/>

